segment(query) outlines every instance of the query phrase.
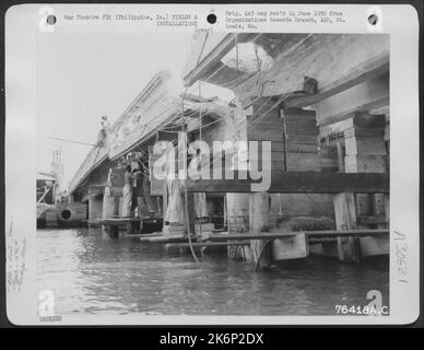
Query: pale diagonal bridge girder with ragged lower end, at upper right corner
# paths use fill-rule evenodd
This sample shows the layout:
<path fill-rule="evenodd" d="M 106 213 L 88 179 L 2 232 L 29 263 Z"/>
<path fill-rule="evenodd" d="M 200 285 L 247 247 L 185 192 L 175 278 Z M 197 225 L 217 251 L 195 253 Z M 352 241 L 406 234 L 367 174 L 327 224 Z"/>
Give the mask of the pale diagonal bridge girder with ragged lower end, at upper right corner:
<path fill-rule="evenodd" d="M 388 36 L 314 34 L 281 52 L 258 81 L 246 81 L 235 93 L 245 108 L 258 94 L 258 84 L 273 81 L 263 85 L 261 96 L 278 96 L 302 91 L 304 78 L 311 77 L 318 81 L 318 94 L 297 95 L 286 107 L 307 106 L 386 72 L 388 61 Z"/>

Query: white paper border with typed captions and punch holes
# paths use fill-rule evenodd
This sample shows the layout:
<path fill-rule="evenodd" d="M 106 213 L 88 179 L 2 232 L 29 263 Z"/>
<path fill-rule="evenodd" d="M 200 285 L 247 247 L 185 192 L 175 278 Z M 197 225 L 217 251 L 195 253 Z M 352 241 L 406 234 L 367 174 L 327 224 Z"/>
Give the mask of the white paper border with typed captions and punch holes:
<path fill-rule="evenodd" d="M 37 135 L 37 38 L 42 16 L 37 4 L 10 8 L 5 13 L 5 235 L 26 242 L 25 272 L 20 290 L 7 294 L 8 318 L 15 325 L 291 325 L 291 324 L 410 324 L 420 313 L 420 128 L 419 128 L 419 18 L 411 5 L 379 5 L 380 33 L 390 34 L 390 315 L 389 316 L 156 316 L 156 315 L 64 315 L 61 322 L 45 323 L 37 317 L 36 242 L 34 206 Z M 154 15 L 184 9 L 196 13 L 199 28 L 225 32 L 225 11 L 247 11 L 264 4 L 51 4 L 55 14 L 144 13 Z M 345 23 L 278 24 L 257 23 L 262 33 L 370 33 L 365 4 L 267 4 L 268 10 L 342 11 Z M 219 21 L 207 23 L 214 10 Z M 134 21 L 108 25 L 58 21 L 56 33 L 119 31 L 177 31 L 153 27 Z M 178 31 L 191 31 L 180 27 Z M 235 32 L 235 31 L 231 31 Z M 247 30 L 246 30 L 247 32 Z M 248 30 L 248 32 L 255 32 Z M 378 35 L 378 33 L 375 33 Z M 394 232 L 404 235 L 408 273 L 400 282 Z M 8 242 L 7 242 L 8 244 Z"/>

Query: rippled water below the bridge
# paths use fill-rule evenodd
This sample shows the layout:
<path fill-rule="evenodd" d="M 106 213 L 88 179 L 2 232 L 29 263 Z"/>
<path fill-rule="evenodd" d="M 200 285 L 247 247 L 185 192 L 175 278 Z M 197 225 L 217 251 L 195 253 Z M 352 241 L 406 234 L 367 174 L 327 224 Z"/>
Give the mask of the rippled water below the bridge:
<path fill-rule="evenodd" d="M 388 266 L 387 258 L 343 265 L 308 257 L 254 272 L 225 256 L 196 264 L 99 230 L 37 231 L 38 288 L 54 291 L 58 315 L 334 315 L 337 304 L 366 305 L 373 289 L 388 305 Z"/>

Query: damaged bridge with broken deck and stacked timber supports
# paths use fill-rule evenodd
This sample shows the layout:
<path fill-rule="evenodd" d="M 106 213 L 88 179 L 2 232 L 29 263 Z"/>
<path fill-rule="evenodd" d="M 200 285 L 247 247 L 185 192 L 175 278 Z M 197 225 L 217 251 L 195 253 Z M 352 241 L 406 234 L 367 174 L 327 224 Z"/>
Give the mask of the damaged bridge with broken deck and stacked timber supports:
<path fill-rule="evenodd" d="M 389 36 L 199 33 L 182 79 L 187 90 L 212 84 L 234 101 L 174 91 L 166 72 L 156 74 L 71 183 L 89 222 L 116 219 L 119 225 L 120 161 L 133 153 L 144 170 L 134 188 L 140 221 L 155 218 L 166 226 L 165 237 L 153 241 L 186 240 L 191 232 L 198 245 L 216 243 L 229 258 L 260 267 L 313 253 L 342 261 L 388 254 Z M 181 135 L 210 149 L 214 141 L 271 142 L 270 154 L 259 152 L 246 167 L 235 161 L 237 148 L 224 156 L 200 151 L 223 170 L 231 160 L 233 177 L 216 178 L 210 170 L 181 180 L 188 196 L 174 208 L 180 221 L 164 222 L 175 200 L 166 183 L 152 177 L 152 148 L 168 141 L 178 149 Z M 262 191 L 251 191 L 258 182 L 252 162 L 268 166 L 261 171 L 270 186 Z"/>

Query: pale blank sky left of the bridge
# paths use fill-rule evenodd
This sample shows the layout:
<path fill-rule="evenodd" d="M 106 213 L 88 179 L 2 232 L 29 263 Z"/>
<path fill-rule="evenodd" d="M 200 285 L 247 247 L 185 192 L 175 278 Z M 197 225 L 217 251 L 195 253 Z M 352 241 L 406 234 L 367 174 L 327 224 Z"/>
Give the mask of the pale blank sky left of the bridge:
<path fill-rule="evenodd" d="M 90 147 L 101 117 L 113 124 L 160 70 L 180 78 L 192 34 L 43 35 L 37 46 L 37 170 L 50 171 L 61 148 L 67 186 Z M 182 89 L 182 82 L 181 82 Z"/>

